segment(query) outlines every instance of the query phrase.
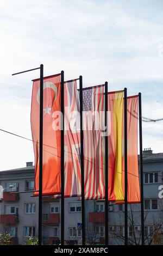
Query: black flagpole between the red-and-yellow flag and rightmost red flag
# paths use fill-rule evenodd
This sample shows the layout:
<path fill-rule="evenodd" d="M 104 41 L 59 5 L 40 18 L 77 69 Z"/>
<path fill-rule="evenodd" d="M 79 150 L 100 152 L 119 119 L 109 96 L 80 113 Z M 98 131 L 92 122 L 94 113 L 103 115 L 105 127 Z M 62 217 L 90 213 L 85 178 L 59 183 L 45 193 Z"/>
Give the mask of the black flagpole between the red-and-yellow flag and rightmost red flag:
<path fill-rule="evenodd" d="M 124 244 L 128 244 L 128 194 L 127 194 L 127 88 L 124 88 Z"/>

